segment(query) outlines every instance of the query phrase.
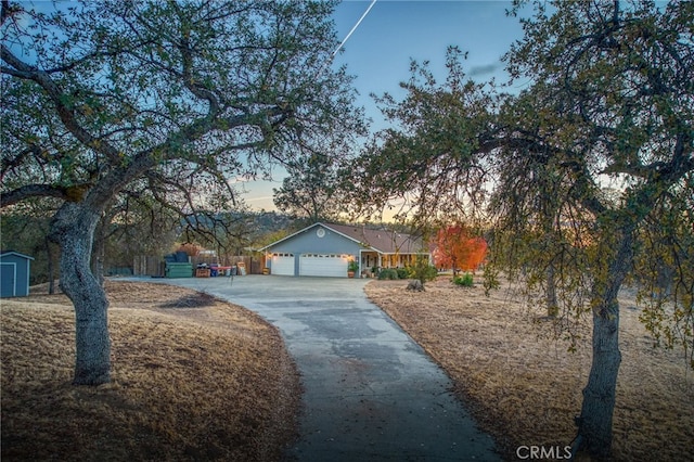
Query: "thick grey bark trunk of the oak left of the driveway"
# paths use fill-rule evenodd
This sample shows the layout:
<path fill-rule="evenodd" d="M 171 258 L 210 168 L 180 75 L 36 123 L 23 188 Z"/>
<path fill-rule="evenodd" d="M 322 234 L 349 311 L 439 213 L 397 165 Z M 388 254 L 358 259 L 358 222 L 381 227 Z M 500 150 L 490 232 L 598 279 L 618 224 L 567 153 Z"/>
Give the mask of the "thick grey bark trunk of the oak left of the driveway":
<path fill-rule="evenodd" d="M 79 203 L 65 203 L 51 223 L 51 239 L 61 247 L 61 288 L 75 306 L 76 385 L 111 381 L 108 300 L 90 270 L 94 228 L 100 210 Z"/>

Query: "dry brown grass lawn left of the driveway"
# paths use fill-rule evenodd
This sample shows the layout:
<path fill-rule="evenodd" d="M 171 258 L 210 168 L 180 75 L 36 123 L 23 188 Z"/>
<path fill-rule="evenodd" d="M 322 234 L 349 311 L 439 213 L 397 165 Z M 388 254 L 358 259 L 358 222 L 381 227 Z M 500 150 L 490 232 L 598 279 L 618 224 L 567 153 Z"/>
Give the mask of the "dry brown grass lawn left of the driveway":
<path fill-rule="evenodd" d="M 182 287 L 107 282 L 113 383 L 70 385 L 63 295 L 1 301 L 2 460 L 279 460 L 300 388 L 278 331 Z"/>

